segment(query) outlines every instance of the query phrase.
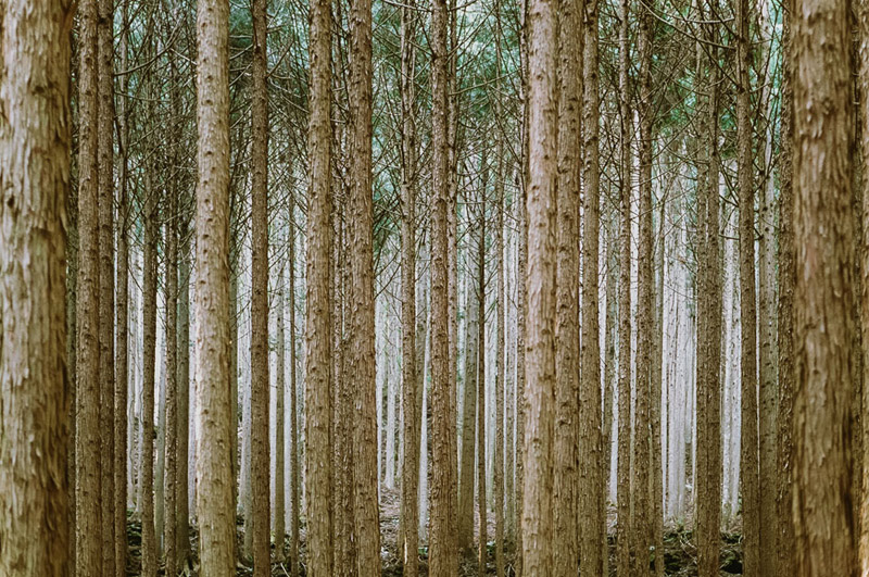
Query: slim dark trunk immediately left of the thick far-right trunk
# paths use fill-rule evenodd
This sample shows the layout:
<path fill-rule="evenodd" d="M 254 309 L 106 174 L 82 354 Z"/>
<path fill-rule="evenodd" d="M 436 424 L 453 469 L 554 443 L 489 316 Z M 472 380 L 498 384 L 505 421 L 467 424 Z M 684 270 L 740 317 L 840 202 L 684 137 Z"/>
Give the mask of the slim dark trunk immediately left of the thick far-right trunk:
<path fill-rule="evenodd" d="M 779 353 L 779 406 L 778 406 L 778 477 L 777 477 L 777 516 L 778 536 L 776 549 L 778 551 L 776 563 L 777 577 L 790 577 L 796 574 L 796 563 L 793 555 L 794 522 L 792 514 L 793 503 L 793 403 L 796 373 L 794 365 L 794 284 L 796 281 L 795 251 L 794 251 L 794 197 L 793 197 L 793 61 L 791 50 L 791 22 L 793 18 L 793 2 L 788 1 L 788 9 L 782 13 L 782 89 L 781 89 L 781 150 L 779 152 L 779 302 L 778 302 L 778 353 Z M 865 4 L 860 2 L 864 12 L 860 13 L 861 26 L 869 30 L 869 13 L 865 12 Z M 869 55 L 869 54 L 867 54 Z M 866 55 L 861 54 L 861 62 Z M 869 64 L 869 61 L 867 61 Z M 867 66 L 869 70 L 869 66 Z M 864 98 L 869 96 L 862 92 Z M 867 109 L 864 108 L 864 111 Z M 869 116 L 867 116 L 869 117 Z M 869 131 L 864 129 L 864 135 Z M 869 148 L 864 146 L 864 153 Z M 867 174 L 864 170 L 864 174 Z M 866 199 L 864 193 L 864 199 Z M 867 268 L 864 268 L 866 271 Z M 866 284 L 864 285 L 866 286 Z M 862 301 L 864 304 L 866 301 Z M 864 337 L 864 342 L 869 342 Z M 864 363 L 864 367 L 869 366 Z M 866 390 L 866 389 L 864 389 Z M 864 423 L 869 421 L 864 419 Z M 867 447 L 867 444 L 864 444 Z M 864 489 L 864 494 L 869 494 Z M 866 511 L 869 511 L 867 507 Z M 867 526 L 867 525 L 864 525 Z M 869 551 L 869 541 L 866 542 Z M 867 557 L 861 557 L 867 559 Z M 864 570 L 869 570 L 869 565 Z"/>

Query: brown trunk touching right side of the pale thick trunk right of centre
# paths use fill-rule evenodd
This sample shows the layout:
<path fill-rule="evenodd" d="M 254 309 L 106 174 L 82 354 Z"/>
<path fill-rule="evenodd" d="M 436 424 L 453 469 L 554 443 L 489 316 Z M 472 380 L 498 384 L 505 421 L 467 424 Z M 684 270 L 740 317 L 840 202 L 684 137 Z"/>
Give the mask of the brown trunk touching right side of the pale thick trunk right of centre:
<path fill-rule="evenodd" d="M 582 0 L 559 0 L 553 575 L 579 565 L 579 176 Z M 577 34 L 578 33 L 578 34 Z"/>

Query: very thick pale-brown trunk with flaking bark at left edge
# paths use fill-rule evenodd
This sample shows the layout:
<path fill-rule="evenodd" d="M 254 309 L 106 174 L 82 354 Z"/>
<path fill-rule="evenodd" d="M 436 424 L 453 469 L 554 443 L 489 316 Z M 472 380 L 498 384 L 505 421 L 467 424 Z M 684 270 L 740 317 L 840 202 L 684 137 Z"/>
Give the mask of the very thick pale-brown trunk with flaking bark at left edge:
<path fill-rule="evenodd" d="M 65 227 L 73 11 L 67 1 L 7 1 L 0 20 L 0 574 L 61 577 L 71 561 Z"/>

